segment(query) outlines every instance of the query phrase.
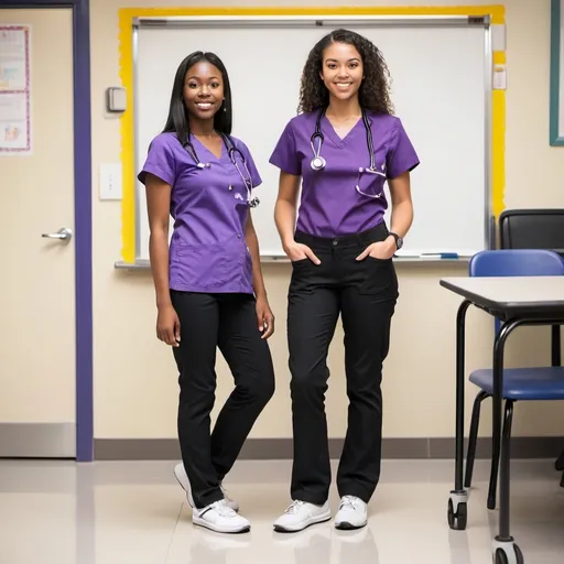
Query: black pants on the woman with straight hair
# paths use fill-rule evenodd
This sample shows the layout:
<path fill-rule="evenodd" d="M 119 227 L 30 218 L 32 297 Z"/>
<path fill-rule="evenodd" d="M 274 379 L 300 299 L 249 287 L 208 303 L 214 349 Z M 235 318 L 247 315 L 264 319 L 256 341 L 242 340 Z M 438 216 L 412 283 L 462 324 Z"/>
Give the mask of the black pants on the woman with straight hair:
<path fill-rule="evenodd" d="M 173 348 L 180 372 L 178 438 L 199 509 L 224 498 L 220 482 L 274 393 L 274 370 L 253 296 L 176 291 L 171 296 L 181 322 L 181 344 Z M 236 387 L 210 433 L 217 347 Z"/>

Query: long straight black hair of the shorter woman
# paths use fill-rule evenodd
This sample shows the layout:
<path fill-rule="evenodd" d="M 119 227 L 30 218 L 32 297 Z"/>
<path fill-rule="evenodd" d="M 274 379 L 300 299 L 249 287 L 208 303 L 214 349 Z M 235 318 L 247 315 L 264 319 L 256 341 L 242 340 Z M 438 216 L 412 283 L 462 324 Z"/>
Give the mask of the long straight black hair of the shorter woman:
<path fill-rule="evenodd" d="M 224 97 L 225 101 L 219 110 L 214 116 L 214 129 L 220 133 L 229 135 L 232 126 L 232 109 L 231 109 L 231 86 L 229 84 L 229 76 L 221 59 L 215 53 L 205 53 L 196 51 L 188 55 L 180 65 L 174 76 L 174 84 L 172 87 L 171 105 L 169 108 L 169 117 L 164 126 L 163 133 L 176 133 L 180 142 L 185 145 L 188 142 L 189 135 L 189 120 L 188 110 L 184 104 L 184 83 L 186 73 L 195 64 L 206 61 L 219 69 L 224 79 Z M 225 111 L 224 111 L 225 110 Z"/>

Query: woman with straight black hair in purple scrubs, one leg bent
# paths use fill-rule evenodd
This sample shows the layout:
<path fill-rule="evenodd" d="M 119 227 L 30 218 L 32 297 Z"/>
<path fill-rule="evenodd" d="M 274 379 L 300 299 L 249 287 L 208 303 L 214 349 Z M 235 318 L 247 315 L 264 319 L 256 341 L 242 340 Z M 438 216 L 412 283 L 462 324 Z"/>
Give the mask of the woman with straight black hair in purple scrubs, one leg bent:
<path fill-rule="evenodd" d="M 193 522 L 217 532 L 250 530 L 221 482 L 274 392 L 267 339 L 274 330 L 250 208 L 261 178 L 247 145 L 231 133 L 231 89 L 213 53 L 178 66 L 164 131 L 149 148 L 147 187 L 156 336 L 173 347 L 180 377 L 174 474 Z M 169 246 L 169 216 L 174 229 Z M 216 348 L 235 390 L 210 433 Z"/>

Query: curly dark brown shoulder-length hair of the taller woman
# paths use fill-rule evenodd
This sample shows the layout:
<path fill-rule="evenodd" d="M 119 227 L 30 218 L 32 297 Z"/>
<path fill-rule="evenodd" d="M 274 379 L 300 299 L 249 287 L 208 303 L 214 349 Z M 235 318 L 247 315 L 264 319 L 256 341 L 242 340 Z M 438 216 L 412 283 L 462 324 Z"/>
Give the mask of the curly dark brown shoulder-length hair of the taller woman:
<path fill-rule="evenodd" d="M 302 73 L 299 113 L 314 111 L 329 104 L 329 93 L 319 73 L 323 68 L 323 52 L 332 43 L 347 43 L 360 53 L 365 69 L 365 78 L 358 90 L 360 106 L 376 113 L 393 113 L 390 70 L 380 50 L 371 41 L 349 30 L 332 31 L 310 52 Z"/>

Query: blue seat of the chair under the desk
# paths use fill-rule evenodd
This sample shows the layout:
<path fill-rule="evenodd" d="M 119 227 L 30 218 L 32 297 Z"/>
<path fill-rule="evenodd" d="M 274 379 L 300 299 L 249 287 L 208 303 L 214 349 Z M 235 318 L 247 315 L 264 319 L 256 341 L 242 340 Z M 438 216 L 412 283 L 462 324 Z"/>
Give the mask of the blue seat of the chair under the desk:
<path fill-rule="evenodd" d="M 489 368 L 470 373 L 470 382 L 494 395 L 494 371 Z M 564 400 L 564 367 L 503 369 L 503 399 Z"/>

